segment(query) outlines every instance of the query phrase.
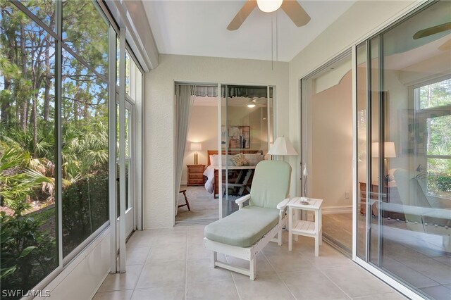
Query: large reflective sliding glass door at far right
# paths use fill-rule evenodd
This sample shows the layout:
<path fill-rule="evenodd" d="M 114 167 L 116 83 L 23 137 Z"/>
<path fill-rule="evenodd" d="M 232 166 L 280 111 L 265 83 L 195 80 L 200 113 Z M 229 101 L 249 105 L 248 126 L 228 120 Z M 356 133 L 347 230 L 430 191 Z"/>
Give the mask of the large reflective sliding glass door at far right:
<path fill-rule="evenodd" d="M 357 257 L 433 299 L 451 284 L 451 2 L 357 46 Z"/>

